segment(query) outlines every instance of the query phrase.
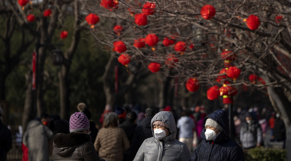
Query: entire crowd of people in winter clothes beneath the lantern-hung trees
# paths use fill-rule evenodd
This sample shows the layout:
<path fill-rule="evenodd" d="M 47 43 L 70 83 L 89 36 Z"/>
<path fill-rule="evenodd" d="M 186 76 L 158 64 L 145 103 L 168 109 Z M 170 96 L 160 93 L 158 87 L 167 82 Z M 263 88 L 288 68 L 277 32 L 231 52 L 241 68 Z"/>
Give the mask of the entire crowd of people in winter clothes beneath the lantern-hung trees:
<path fill-rule="evenodd" d="M 0 132 L 4 128 L 0 122 Z M 203 106 L 176 112 L 171 106 L 143 109 L 138 105 L 106 105 L 95 124 L 86 105 L 79 103 L 69 121 L 56 114 L 31 120 L 23 134 L 22 160 L 49 161 L 52 155 L 53 160 L 243 161 L 244 149 L 264 146 L 268 129 L 269 141 L 283 142 L 285 148 L 284 122 L 280 114 L 265 108 L 237 108 L 232 129 L 227 109 L 207 114 Z M 11 149 L 9 132 L 7 129 L 5 138 L 0 138 L 0 158 L 4 161 Z"/>

